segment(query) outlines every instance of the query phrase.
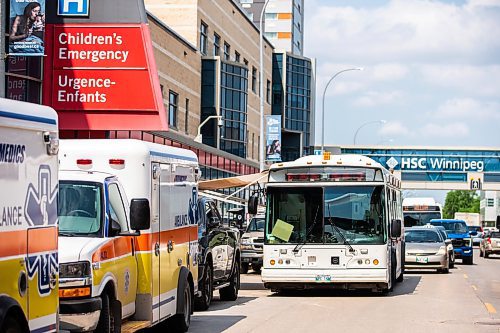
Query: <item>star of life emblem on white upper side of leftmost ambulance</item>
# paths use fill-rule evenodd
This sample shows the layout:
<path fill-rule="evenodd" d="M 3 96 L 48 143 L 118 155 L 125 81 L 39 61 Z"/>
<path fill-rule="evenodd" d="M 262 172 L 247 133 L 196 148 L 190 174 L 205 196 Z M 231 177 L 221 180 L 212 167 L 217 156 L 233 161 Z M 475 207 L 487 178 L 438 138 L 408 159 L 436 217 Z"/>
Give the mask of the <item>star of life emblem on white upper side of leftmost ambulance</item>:
<path fill-rule="evenodd" d="M 30 226 L 48 226 L 57 223 L 57 184 L 52 185 L 50 167 L 40 166 L 38 187 L 30 183 L 24 205 L 24 216 Z"/>

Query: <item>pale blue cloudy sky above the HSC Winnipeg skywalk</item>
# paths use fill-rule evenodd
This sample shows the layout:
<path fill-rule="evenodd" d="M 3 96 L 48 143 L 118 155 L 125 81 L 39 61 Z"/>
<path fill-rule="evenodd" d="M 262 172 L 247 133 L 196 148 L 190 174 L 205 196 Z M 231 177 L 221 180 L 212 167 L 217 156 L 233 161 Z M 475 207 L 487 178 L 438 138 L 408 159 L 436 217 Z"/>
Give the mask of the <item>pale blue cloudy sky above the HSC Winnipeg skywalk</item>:
<path fill-rule="evenodd" d="M 305 0 L 316 144 L 500 146 L 500 0 Z"/>

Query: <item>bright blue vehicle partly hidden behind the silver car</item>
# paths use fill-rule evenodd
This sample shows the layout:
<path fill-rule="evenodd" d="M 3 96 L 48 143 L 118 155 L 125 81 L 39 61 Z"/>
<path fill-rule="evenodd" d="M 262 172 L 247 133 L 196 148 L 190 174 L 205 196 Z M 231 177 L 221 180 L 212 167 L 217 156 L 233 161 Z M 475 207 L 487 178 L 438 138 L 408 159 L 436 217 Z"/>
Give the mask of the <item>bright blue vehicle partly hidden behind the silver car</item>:
<path fill-rule="evenodd" d="M 475 231 L 469 234 L 469 229 L 464 220 L 433 219 L 430 224 L 434 226 L 443 226 L 446 229 L 448 238 L 451 239 L 451 243 L 453 244 L 455 258 L 462 259 L 462 263 L 464 264 L 472 265 L 474 252 L 471 236 L 474 236 Z"/>

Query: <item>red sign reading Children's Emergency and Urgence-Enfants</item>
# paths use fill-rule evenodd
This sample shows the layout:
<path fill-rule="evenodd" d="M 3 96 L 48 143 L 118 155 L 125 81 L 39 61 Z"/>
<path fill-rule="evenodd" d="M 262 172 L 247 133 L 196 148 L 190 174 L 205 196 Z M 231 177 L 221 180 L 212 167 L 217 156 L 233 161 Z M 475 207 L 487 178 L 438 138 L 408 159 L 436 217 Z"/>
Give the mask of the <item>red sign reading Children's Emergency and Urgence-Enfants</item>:
<path fill-rule="evenodd" d="M 144 13 L 115 17 L 93 4 L 102 8 L 89 20 L 48 19 L 44 104 L 58 111 L 60 129 L 166 130 Z"/>

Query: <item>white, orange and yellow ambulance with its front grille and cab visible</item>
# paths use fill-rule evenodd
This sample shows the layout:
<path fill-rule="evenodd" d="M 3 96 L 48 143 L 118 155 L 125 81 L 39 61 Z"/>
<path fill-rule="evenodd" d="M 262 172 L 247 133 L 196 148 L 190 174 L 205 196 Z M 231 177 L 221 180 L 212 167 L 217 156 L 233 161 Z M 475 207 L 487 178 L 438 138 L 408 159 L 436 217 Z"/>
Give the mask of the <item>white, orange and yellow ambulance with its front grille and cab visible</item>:
<path fill-rule="evenodd" d="M 60 325 L 186 331 L 198 281 L 198 159 L 139 140 L 61 140 Z"/>

